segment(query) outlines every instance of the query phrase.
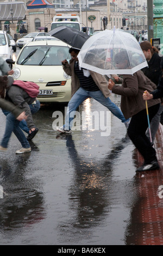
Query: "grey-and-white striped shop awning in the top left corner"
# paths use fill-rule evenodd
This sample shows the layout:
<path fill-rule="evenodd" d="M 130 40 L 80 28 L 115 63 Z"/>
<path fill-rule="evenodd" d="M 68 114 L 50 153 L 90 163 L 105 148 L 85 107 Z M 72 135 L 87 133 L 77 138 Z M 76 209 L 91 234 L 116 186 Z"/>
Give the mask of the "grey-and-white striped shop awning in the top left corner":
<path fill-rule="evenodd" d="M 13 14 L 11 15 L 11 9 Z M 27 7 L 24 2 L 3 2 L 0 3 L 0 20 L 23 20 Z"/>

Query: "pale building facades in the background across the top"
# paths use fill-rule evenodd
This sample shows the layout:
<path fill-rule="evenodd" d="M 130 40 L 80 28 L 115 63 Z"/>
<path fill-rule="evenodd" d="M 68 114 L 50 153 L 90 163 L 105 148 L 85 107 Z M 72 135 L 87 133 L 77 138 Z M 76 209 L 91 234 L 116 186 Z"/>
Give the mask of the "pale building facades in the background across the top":
<path fill-rule="evenodd" d="M 108 1 L 109 0 L 23 0 L 27 6 L 26 13 L 21 19 L 14 17 L 14 29 L 12 33 L 9 29 L 11 27 L 10 20 L 3 20 L 0 16 L 1 29 L 8 29 L 11 35 L 19 32 L 23 26 L 27 33 L 37 31 L 39 27 L 47 27 L 51 30 L 51 23 L 55 14 L 77 14 L 80 16 L 82 27 L 94 28 L 95 31 L 104 29 L 104 17 L 108 17 Z M 0 0 L 1 4 L 2 0 Z M 7 1 L 6 1 L 7 2 Z M 17 2 L 17 1 L 15 1 Z M 40 5 L 38 4 L 40 2 Z M 5 3 L 3 1 L 3 3 Z M 14 2 L 11 2 L 14 3 Z M 87 5 L 87 6 L 86 6 Z M 89 19 L 90 16 L 94 19 Z M 136 29 L 140 31 L 147 27 L 147 0 L 111 0 L 110 1 L 110 15 L 108 19 L 108 26 L 106 28 L 122 27 L 122 18 L 126 19 L 126 26 L 124 29 Z"/>

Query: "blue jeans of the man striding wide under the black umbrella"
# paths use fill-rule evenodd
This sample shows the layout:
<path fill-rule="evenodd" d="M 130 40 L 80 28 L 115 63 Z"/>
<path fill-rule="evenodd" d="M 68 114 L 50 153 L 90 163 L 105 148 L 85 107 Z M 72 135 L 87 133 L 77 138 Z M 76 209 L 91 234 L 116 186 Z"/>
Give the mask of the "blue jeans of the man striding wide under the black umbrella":
<path fill-rule="evenodd" d="M 77 92 L 72 96 L 70 102 L 68 103 L 67 113 L 66 113 L 66 120 L 65 120 L 65 130 L 71 130 L 72 127 L 72 120 L 74 119 L 74 115 L 76 109 L 79 105 L 86 100 L 88 97 L 92 97 L 93 99 L 97 100 L 103 106 L 108 108 L 112 114 L 114 114 L 117 118 L 119 118 L 122 123 L 129 121 L 129 119 L 125 119 L 122 111 L 113 103 L 110 98 L 105 98 L 101 90 L 96 92 L 89 92 L 84 90 L 83 88 L 79 88 Z M 74 113 L 72 113 L 74 112 Z"/>

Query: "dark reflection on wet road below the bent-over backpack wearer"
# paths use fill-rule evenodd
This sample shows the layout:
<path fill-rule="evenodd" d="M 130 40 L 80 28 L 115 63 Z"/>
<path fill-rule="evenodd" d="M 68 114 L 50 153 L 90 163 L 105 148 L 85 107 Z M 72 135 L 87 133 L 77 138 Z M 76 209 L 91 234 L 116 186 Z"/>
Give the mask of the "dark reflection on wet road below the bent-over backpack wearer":
<path fill-rule="evenodd" d="M 4 197 L 0 200 L 1 235 L 6 235 L 7 230 L 9 237 L 13 234 L 18 235 L 27 225 L 29 227 L 45 218 L 44 196 L 42 192 L 36 190 L 39 180 L 34 179 L 33 182 L 26 180 L 29 158 L 30 156 L 21 155 L 9 161 L 3 156 L 1 161 L 4 188 Z"/>

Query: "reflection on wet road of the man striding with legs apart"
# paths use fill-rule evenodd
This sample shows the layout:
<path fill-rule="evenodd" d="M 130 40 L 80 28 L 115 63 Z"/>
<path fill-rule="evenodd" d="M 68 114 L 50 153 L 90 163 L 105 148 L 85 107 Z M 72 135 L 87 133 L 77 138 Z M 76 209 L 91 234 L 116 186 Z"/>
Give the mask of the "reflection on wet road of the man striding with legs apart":
<path fill-rule="evenodd" d="M 64 137 L 63 137 L 64 136 Z M 73 185 L 70 186 L 71 205 L 76 211 L 76 217 L 71 226 L 92 227 L 103 221 L 104 209 L 109 212 L 108 186 L 111 182 L 108 172 L 112 169 L 117 154 L 130 143 L 130 139 L 123 138 L 118 142 L 108 156 L 99 164 L 92 159 L 84 159 L 76 150 L 72 135 L 61 135 L 58 139 L 66 139 L 66 146 L 74 167 Z M 102 171 L 101 171 L 102 170 Z M 107 174 L 107 175 L 106 175 Z M 108 177 L 108 178 L 106 178 Z M 111 184 L 112 186 L 112 184 Z"/>

